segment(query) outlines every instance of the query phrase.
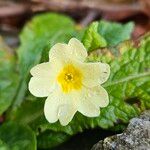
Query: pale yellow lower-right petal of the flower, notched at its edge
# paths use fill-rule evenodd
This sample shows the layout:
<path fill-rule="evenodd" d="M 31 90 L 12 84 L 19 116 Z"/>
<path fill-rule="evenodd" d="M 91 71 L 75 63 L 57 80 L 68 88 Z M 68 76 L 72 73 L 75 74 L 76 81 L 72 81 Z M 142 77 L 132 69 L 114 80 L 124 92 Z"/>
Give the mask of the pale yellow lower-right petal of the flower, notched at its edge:
<path fill-rule="evenodd" d="M 93 88 L 83 87 L 78 97 L 78 111 L 88 117 L 99 116 L 99 107 L 106 107 L 109 104 L 108 93 L 100 85 Z"/>

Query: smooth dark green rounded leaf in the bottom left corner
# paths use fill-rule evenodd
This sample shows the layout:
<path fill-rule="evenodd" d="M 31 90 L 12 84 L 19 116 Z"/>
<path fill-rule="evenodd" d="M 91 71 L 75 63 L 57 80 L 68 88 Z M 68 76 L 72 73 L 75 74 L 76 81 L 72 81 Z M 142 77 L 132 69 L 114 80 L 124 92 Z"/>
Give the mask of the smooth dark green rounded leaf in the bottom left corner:
<path fill-rule="evenodd" d="M 25 125 L 5 123 L 0 127 L 0 148 L 4 150 L 36 150 L 34 132 Z"/>

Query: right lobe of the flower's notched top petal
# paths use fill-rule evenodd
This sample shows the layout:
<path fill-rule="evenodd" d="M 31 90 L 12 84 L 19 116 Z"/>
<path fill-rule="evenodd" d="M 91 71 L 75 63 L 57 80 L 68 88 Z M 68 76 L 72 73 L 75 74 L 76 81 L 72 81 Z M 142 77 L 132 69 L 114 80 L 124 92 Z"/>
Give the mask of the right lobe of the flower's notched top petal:
<path fill-rule="evenodd" d="M 76 57 L 76 59 L 84 61 L 88 56 L 87 50 L 85 49 L 84 45 L 76 38 L 70 39 L 68 45 L 71 48 L 72 57 Z"/>

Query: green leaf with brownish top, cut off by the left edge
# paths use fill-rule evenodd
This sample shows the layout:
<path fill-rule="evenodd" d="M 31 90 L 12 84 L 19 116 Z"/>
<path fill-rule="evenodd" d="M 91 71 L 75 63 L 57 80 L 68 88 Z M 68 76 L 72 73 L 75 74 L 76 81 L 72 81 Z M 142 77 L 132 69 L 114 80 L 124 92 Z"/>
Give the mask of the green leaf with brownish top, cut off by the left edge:
<path fill-rule="evenodd" d="M 0 37 L 0 115 L 11 105 L 18 87 L 16 59 Z"/>

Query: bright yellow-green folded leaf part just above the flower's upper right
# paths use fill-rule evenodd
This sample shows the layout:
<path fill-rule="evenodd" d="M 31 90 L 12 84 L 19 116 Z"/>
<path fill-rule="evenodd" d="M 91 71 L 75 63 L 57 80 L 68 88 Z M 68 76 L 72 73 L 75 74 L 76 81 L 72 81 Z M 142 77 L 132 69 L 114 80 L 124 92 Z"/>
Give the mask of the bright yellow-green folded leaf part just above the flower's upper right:
<path fill-rule="evenodd" d="M 98 22 L 93 22 L 85 31 L 82 42 L 88 51 L 106 47 L 106 40 L 98 33 Z"/>

